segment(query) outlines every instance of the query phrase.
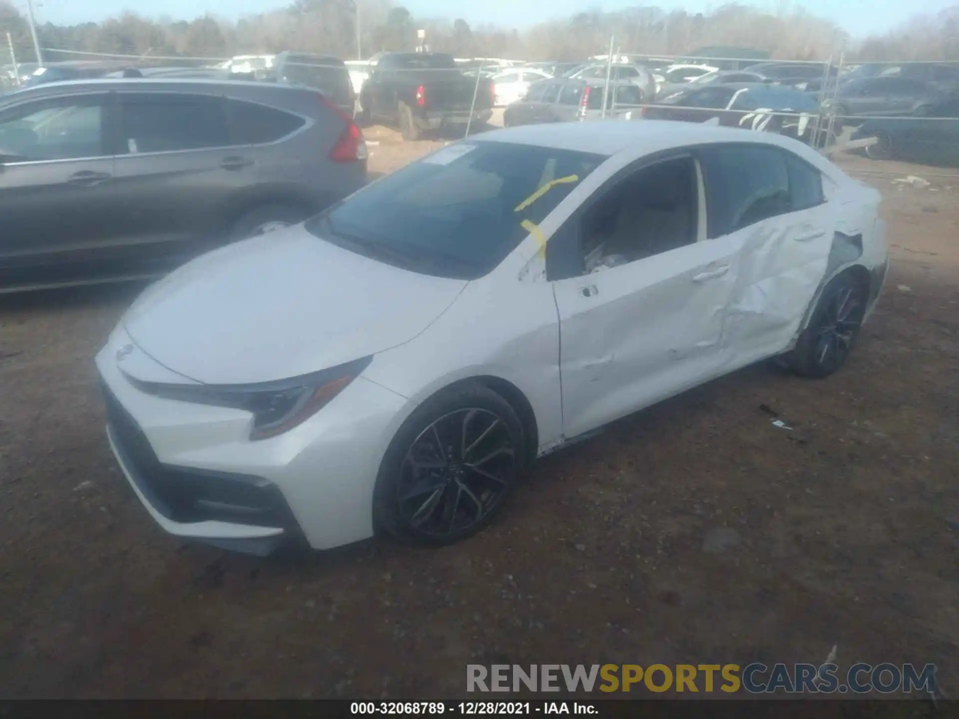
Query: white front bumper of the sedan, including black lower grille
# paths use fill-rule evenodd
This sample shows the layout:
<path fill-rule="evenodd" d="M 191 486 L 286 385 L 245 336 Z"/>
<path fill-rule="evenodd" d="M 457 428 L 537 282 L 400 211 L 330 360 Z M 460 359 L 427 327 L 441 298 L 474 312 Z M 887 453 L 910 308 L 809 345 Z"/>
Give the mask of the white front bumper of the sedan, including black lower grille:
<path fill-rule="evenodd" d="M 115 357 L 129 342 L 118 331 L 97 356 L 107 438 L 165 531 L 260 555 L 372 536 L 376 476 L 406 399 L 360 377 L 302 425 L 250 441 L 243 410 L 162 399 L 130 383 Z M 137 359 L 130 367 L 142 372 Z"/>

